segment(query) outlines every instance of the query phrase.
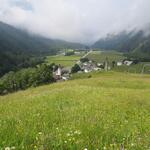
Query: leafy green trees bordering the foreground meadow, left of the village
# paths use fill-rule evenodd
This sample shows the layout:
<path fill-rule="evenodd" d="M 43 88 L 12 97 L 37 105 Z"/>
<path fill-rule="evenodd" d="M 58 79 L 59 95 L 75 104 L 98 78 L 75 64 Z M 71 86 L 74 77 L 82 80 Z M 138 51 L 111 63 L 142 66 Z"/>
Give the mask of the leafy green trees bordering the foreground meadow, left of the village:
<path fill-rule="evenodd" d="M 0 95 L 55 82 L 53 65 L 42 64 L 35 68 L 5 74 L 0 78 Z"/>

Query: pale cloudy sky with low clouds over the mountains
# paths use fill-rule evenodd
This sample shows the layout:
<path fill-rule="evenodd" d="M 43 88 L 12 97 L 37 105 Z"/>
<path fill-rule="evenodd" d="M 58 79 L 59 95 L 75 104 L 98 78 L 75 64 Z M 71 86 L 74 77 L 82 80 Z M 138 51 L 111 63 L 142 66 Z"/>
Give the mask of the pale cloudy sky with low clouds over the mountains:
<path fill-rule="evenodd" d="M 0 0 L 0 21 L 53 39 L 90 44 L 146 29 L 150 0 Z"/>

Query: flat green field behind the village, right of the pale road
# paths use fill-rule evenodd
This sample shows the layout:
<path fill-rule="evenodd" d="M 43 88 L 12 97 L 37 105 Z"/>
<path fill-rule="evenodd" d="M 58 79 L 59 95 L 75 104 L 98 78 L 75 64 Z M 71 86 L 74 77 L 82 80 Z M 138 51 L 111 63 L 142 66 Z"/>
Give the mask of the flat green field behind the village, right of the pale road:
<path fill-rule="evenodd" d="M 99 63 L 103 63 L 107 58 L 109 63 L 112 63 L 112 61 L 121 61 L 126 57 L 124 57 L 122 53 L 116 51 L 93 51 L 87 58 Z"/>

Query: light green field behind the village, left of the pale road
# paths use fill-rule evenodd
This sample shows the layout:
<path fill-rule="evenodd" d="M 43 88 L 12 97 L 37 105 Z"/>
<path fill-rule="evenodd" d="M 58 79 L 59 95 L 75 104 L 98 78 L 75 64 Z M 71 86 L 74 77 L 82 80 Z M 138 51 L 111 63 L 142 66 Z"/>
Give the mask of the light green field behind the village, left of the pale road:
<path fill-rule="evenodd" d="M 61 64 L 64 67 L 73 66 L 78 60 L 80 60 L 82 55 L 72 55 L 72 56 L 47 56 L 46 63 L 55 63 L 57 65 Z"/>

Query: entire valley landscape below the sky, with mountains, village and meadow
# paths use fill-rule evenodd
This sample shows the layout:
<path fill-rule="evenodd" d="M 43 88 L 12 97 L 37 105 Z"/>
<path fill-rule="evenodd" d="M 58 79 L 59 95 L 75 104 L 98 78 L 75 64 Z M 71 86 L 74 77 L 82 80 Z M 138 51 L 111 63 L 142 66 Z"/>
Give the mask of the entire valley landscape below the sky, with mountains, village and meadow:
<path fill-rule="evenodd" d="M 0 33 L 0 150 L 150 149 L 150 36 Z"/>

